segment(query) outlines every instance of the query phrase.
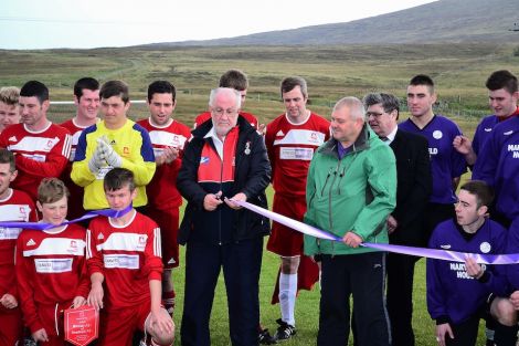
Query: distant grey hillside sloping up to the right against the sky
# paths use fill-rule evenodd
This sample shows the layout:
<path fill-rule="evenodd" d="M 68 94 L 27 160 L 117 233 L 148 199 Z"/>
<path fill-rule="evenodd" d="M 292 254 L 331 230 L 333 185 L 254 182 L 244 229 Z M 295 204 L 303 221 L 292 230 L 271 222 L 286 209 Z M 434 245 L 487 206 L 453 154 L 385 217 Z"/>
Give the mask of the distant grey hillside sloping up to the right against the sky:
<path fill-rule="evenodd" d="M 333 45 L 380 43 L 517 42 L 519 0 L 439 0 L 346 23 L 313 25 L 179 45 Z"/>

